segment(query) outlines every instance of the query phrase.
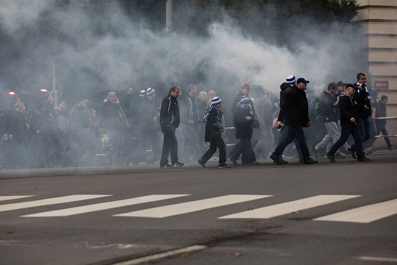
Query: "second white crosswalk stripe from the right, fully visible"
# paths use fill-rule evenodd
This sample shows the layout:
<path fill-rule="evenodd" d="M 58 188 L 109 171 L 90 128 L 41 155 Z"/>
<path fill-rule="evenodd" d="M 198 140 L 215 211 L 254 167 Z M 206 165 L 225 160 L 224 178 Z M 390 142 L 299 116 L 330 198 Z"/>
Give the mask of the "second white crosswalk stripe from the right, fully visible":
<path fill-rule="evenodd" d="M 305 199 L 297 199 L 284 203 L 278 203 L 262 208 L 238 212 L 225 216 L 218 217 L 218 219 L 234 219 L 234 218 L 260 218 L 267 219 L 275 216 L 291 213 L 294 211 L 304 210 L 312 207 L 329 204 L 344 199 L 352 199 L 361 195 L 318 195 Z"/>

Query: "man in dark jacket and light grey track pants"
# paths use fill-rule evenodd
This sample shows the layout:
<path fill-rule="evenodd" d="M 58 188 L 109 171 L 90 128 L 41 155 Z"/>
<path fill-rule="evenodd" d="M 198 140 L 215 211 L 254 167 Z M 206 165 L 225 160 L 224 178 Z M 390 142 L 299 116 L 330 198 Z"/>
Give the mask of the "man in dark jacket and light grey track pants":
<path fill-rule="evenodd" d="M 323 140 L 319 142 L 315 149 L 319 152 L 321 149 L 325 148 L 327 144 L 333 141 L 333 144 L 340 138 L 340 133 L 336 122 L 338 121 L 336 108 L 339 108 L 338 101 L 332 98 L 332 95 L 337 93 L 336 83 L 331 82 L 328 84 L 326 91 L 321 94 L 320 100 L 320 116 L 324 121 L 324 126 L 327 129 L 327 134 L 324 136 Z"/>

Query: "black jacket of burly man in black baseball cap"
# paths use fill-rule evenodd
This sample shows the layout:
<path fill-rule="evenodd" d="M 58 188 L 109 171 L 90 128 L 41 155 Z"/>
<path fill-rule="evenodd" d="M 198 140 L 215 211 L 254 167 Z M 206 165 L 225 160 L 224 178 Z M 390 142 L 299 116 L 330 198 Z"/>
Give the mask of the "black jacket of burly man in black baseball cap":
<path fill-rule="evenodd" d="M 285 113 L 285 124 L 307 127 L 310 119 L 309 105 L 305 91 L 294 85 L 285 95 L 285 102 L 281 106 L 281 112 Z"/>

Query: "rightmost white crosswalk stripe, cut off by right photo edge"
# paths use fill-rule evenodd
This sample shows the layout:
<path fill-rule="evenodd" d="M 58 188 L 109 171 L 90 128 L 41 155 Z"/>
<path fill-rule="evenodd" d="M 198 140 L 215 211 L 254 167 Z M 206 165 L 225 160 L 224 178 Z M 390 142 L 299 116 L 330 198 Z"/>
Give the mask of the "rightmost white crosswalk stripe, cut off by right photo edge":
<path fill-rule="evenodd" d="M 397 199 L 333 213 L 314 220 L 370 223 L 394 214 L 397 214 Z"/>

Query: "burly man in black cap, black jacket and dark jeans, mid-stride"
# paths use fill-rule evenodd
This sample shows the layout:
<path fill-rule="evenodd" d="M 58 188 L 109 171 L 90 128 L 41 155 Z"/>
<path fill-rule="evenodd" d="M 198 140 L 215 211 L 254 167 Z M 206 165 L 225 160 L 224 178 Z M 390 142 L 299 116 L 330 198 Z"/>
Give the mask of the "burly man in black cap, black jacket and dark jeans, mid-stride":
<path fill-rule="evenodd" d="M 290 92 L 286 94 L 285 102 L 281 110 L 285 113 L 285 129 L 287 136 L 276 147 L 270 158 L 274 163 L 281 165 L 280 154 L 285 147 L 291 143 L 295 137 L 298 138 L 299 146 L 303 155 L 304 164 L 316 164 L 317 161 L 310 157 L 309 149 L 306 145 L 306 136 L 303 127 L 310 127 L 309 106 L 305 89 L 309 81 L 305 78 L 298 78 Z"/>

